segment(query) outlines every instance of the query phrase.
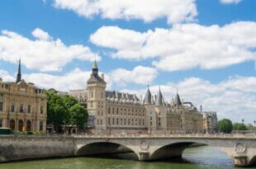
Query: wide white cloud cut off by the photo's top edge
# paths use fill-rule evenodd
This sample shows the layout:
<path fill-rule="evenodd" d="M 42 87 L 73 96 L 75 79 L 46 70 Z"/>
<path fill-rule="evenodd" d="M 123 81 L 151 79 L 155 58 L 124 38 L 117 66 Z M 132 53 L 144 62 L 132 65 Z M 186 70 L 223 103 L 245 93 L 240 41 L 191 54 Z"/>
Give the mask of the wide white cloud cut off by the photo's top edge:
<path fill-rule="evenodd" d="M 177 23 L 193 21 L 197 16 L 195 0 L 55 0 L 54 5 L 87 18 L 100 15 L 107 19 L 141 19 L 148 22 L 167 17 L 168 23 Z"/>

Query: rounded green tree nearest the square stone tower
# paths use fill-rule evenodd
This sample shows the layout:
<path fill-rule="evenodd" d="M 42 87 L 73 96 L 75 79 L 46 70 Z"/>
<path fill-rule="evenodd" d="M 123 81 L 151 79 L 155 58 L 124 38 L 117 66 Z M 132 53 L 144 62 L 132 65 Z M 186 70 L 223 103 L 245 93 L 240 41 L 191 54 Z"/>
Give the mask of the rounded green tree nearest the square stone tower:
<path fill-rule="evenodd" d="M 75 104 L 70 108 L 70 113 L 72 123 L 77 125 L 78 129 L 83 129 L 88 120 L 88 111 L 83 106 Z"/>

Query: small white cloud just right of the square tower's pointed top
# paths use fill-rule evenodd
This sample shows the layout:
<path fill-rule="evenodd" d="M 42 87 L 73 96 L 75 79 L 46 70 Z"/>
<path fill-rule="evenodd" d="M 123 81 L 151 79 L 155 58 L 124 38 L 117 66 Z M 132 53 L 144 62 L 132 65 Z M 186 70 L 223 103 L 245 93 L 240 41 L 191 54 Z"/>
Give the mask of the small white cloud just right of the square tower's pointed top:
<path fill-rule="evenodd" d="M 127 83 L 147 84 L 152 82 L 158 73 L 155 68 L 137 66 L 134 69 L 126 70 L 125 68 L 117 68 L 108 73 L 111 81 L 119 86 L 126 86 Z"/>

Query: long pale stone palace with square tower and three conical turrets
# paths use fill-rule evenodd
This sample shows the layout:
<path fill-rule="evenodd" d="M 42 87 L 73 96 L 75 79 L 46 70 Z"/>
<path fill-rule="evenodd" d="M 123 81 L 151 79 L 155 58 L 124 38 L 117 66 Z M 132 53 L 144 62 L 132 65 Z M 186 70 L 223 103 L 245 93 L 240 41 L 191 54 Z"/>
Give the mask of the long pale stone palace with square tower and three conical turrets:
<path fill-rule="evenodd" d="M 168 103 L 159 88 L 157 96 L 149 87 L 142 101 L 135 95 L 106 91 L 104 75 L 98 74 L 96 61 L 92 67 L 87 89 L 69 94 L 86 106 L 89 112 L 88 128 L 100 134 L 113 133 L 202 133 L 201 113 L 191 102 L 183 102 L 178 95 Z"/>

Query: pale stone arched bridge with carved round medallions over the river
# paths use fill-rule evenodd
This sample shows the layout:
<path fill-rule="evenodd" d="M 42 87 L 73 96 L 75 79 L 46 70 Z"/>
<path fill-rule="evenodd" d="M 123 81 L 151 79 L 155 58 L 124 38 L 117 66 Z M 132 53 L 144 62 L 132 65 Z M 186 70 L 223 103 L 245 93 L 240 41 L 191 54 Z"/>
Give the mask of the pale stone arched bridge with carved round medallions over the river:
<path fill-rule="evenodd" d="M 251 135 L 129 135 L 129 136 L 75 136 L 76 156 L 133 152 L 139 161 L 153 161 L 182 157 L 185 148 L 195 143 L 219 147 L 237 167 L 256 164 L 256 136 Z"/>

